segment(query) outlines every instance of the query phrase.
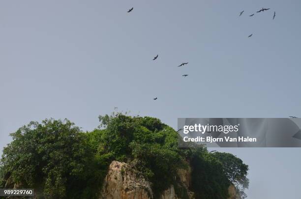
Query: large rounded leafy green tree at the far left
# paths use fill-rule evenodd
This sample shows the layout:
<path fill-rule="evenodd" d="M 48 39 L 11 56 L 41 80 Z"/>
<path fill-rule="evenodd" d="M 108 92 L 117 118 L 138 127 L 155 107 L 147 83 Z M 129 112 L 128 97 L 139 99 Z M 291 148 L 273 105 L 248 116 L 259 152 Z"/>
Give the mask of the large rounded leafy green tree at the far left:
<path fill-rule="evenodd" d="M 30 122 L 11 136 L 1 159 L 5 180 L 10 178 L 19 188 L 34 188 L 43 193 L 42 198 L 70 198 L 86 188 L 93 155 L 74 123 Z"/>

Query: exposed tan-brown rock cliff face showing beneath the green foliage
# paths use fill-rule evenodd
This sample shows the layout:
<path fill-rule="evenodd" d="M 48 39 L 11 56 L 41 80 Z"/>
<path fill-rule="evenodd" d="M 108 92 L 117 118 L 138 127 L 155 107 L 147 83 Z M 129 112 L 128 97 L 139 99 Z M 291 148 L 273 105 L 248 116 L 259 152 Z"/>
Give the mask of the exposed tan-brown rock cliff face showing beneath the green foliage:
<path fill-rule="evenodd" d="M 186 197 L 194 199 L 194 193 L 189 190 L 191 186 L 191 168 L 179 170 L 178 178 L 181 189 L 186 190 Z M 188 196 L 187 196 L 188 195 Z M 229 199 L 237 198 L 234 185 L 229 187 Z M 170 186 L 159 199 L 181 199 L 177 196 L 175 187 Z M 99 199 L 153 199 L 151 183 L 148 182 L 138 171 L 133 170 L 128 164 L 113 161 L 109 166 Z"/>

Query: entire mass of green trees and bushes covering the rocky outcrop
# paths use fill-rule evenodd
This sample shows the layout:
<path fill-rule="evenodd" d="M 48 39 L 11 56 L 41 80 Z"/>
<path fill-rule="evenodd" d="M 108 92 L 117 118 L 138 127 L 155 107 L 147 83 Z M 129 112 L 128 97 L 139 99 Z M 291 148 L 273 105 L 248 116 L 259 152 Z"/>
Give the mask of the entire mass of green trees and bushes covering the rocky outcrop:
<path fill-rule="evenodd" d="M 40 198 L 97 198 L 113 160 L 140 171 L 154 198 L 171 184 L 187 198 L 177 171 L 189 164 L 196 198 L 226 199 L 230 183 L 247 182 L 248 167 L 239 158 L 204 147 L 178 148 L 178 133 L 157 118 L 118 113 L 99 120 L 99 128 L 86 133 L 69 120 L 54 119 L 12 133 L 0 162 L 0 187 L 34 188 Z"/>

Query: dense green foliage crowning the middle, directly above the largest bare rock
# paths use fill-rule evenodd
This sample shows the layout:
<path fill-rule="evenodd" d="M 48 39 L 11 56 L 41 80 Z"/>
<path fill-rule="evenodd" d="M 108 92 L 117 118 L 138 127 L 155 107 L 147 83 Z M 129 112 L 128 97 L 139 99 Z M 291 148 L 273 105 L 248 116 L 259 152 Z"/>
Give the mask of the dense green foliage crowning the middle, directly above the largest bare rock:
<path fill-rule="evenodd" d="M 152 117 L 100 116 L 97 156 L 129 162 L 141 171 L 153 185 L 154 194 L 167 189 L 175 179 L 174 173 L 187 164 L 181 156 L 178 134 L 171 127 Z M 93 139 L 95 140 L 95 139 Z"/>

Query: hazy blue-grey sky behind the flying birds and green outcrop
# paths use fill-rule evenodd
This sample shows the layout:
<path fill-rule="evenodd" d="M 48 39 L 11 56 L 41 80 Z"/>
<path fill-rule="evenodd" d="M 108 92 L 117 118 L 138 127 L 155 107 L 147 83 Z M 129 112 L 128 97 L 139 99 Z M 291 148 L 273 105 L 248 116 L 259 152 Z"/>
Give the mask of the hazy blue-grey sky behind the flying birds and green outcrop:
<path fill-rule="evenodd" d="M 256 13 L 262 7 L 271 9 Z M 31 120 L 68 118 L 90 131 L 114 107 L 174 128 L 178 117 L 301 116 L 300 8 L 300 0 L 1 0 L 0 147 Z M 249 165 L 249 199 L 300 198 L 300 148 L 219 150 Z"/>

